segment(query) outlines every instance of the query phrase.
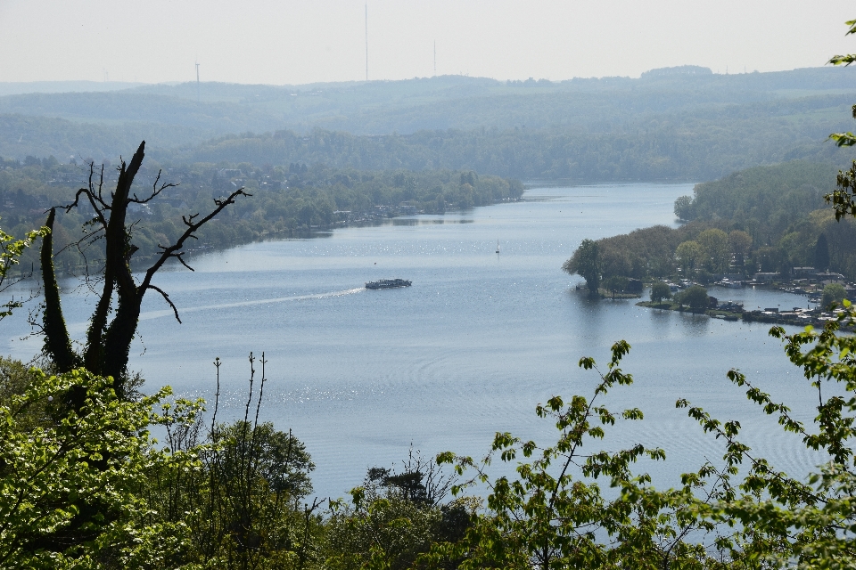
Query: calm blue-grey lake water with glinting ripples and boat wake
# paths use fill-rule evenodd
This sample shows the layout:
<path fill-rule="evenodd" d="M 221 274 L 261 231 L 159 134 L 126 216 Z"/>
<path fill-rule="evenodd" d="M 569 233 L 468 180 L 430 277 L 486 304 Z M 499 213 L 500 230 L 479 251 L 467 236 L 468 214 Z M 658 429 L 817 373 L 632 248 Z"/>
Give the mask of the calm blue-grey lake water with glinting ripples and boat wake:
<path fill-rule="evenodd" d="M 642 463 L 658 485 L 719 460 L 721 444 L 676 410 L 686 397 L 720 419 L 740 419 L 745 440 L 774 466 L 805 473 L 823 458 L 783 436 L 726 378 L 744 371 L 774 398 L 811 420 L 816 392 L 785 358 L 769 325 L 646 309 L 635 301 L 591 300 L 561 271 L 580 240 L 653 224 L 674 225 L 674 199 L 691 184 L 536 188 L 524 201 L 445 216 L 412 216 L 374 227 L 335 230 L 311 240 L 255 243 L 196 256 L 190 273 L 170 268 L 169 291 L 183 324 L 150 293 L 131 368 L 147 387 L 211 400 L 219 357 L 218 418 L 243 417 L 252 351 L 268 359 L 261 417 L 292 429 L 317 464 L 315 491 L 342 496 L 373 466 L 391 467 L 409 446 L 481 457 L 497 431 L 541 444 L 555 428 L 534 408 L 552 395 L 589 395 L 590 355 L 603 366 L 613 342 L 632 349 L 622 368 L 631 387 L 603 402 L 638 407 L 642 422 L 607 431 L 590 451 L 658 445 L 665 462 Z M 495 253 L 499 242 L 500 253 Z M 366 290 L 365 281 L 400 277 L 405 289 Z M 90 301 L 73 281 L 66 319 L 82 338 Z M 763 289 L 712 289 L 747 308 L 804 304 Z M 29 358 L 38 338 L 23 314 L 3 322 L 0 350 Z M 258 365 L 257 365 L 258 366 Z M 506 473 L 507 468 L 496 468 Z"/>

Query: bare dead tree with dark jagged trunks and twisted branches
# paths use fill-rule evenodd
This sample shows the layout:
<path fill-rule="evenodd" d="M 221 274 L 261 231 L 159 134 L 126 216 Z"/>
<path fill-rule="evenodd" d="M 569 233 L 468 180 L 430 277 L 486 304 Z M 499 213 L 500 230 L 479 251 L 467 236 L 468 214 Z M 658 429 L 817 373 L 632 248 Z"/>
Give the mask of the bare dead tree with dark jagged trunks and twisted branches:
<path fill-rule="evenodd" d="M 193 267 L 187 265 L 182 256 L 187 240 L 196 240 L 197 232 L 202 225 L 207 224 L 217 216 L 224 208 L 235 204 L 238 196 L 250 196 L 242 189 L 233 191 L 228 197 L 214 199 L 213 210 L 207 216 L 198 213 L 191 216 L 182 216 L 185 224 L 185 232 L 179 236 L 171 245 L 158 244 L 160 251 L 154 263 L 145 270 L 142 280 L 137 283 L 131 273 L 131 256 L 137 248 L 131 243 L 131 225 L 128 224 L 128 206 L 131 204 L 145 204 L 167 188 L 176 184 L 160 183 L 161 173 L 152 184 L 151 193 L 139 198 L 131 193 L 131 184 L 134 177 L 143 164 L 145 141 L 134 153 L 130 163 L 121 161 L 119 167 L 119 180 L 116 190 L 109 196 L 103 191 L 103 167 L 98 181 L 95 181 L 95 168 L 90 165 L 89 183 L 86 188 L 77 191 L 74 201 L 67 206 L 62 206 L 66 212 L 72 208 L 78 208 L 81 199 L 88 202 L 95 210 L 95 217 L 88 223 L 92 231 L 86 240 L 104 240 L 104 264 L 101 270 L 102 290 L 95 305 L 89 329 L 86 332 L 86 344 L 83 352 L 75 351 L 71 338 L 62 317 L 62 303 L 60 291 L 57 286 L 56 276 L 53 269 L 53 240 L 50 235 L 45 236 L 42 242 L 41 265 L 42 280 L 45 289 L 45 310 L 43 314 L 43 331 L 45 334 L 45 353 L 55 362 L 59 371 L 70 371 L 71 369 L 84 366 L 86 370 L 102 376 L 111 376 L 113 385 L 119 394 L 128 375 L 128 353 L 131 342 L 136 334 L 137 323 L 140 317 L 140 307 L 146 291 L 156 291 L 163 297 L 176 315 L 176 320 L 181 322 L 176 305 L 169 299 L 166 291 L 152 283 L 152 278 L 161 267 L 171 258 L 185 265 L 193 271 Z M 160 185 L 159 185 L 160 183 Z M 56 209 L 51 208 L 47 216 L 46 226 L 53 229 L 53 220 Z M 112 320 L 110 320 L 112 314 Z"/>

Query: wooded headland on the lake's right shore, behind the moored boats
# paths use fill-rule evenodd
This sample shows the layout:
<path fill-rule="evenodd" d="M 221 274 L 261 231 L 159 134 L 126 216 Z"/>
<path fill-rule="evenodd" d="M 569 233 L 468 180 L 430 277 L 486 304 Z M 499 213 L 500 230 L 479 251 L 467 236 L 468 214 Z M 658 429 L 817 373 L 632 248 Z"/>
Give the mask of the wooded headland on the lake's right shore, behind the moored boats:
<path fill-rule="evenodd" d="M 687 224 L 598 240 L 602 276 L 665 278 L 680 268 L 705 281 L 756 271 L 786 277 L 793 267 L 814 266 L 854 278 L 856 224 L 835 222 L 823 198 L 835 190 L 835 174 L 832 165 L 794 161 L 696 184 L 692 197 L 675 202 Z"/>

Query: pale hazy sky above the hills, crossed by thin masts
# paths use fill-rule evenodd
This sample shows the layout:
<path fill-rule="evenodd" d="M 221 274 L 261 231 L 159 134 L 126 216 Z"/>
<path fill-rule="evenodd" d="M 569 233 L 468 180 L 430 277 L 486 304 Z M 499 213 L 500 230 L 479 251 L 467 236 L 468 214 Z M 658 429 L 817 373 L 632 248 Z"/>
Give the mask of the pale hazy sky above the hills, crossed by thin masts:
<path fill-rule="evenodd" d="M 823 65 L 844 0 L 369 0 L 370 79 Z M 0 81 L 302 84 L 366 77 L 363 0 L 0 0 Z"/>

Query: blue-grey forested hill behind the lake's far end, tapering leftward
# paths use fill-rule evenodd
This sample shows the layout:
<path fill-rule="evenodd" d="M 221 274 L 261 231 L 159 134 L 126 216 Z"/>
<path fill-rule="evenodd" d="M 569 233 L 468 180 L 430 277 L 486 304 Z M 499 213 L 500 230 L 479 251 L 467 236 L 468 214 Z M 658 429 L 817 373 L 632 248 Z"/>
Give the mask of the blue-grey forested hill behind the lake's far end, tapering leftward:
<path fill-rule="evenodd" d="M 847 117 L 848 105 L 835 98 L 834 113 Z M 827 102 L 823 103 L 824 105 Z M 685 113 L 652 119 L 616 132 L 583 128 L 420 131 L 407 135 L 358 136 L 317 129 L 309 134 L 224 136 L 169 153 L 187 162 L 247 161 L 277 164 L 302 160 L 365 169 L 472 169 L 522 179 L 603 181 L 712 180 L 735 170 L 784 160 L 842 163 L 850 156 L 828 133 L 841 121 L 826 108 L 790 108 L 757 103 L 753 109 L 721 110 L 709 117 Z M 164 159 L 168 159 L 164 157 Z"/>

